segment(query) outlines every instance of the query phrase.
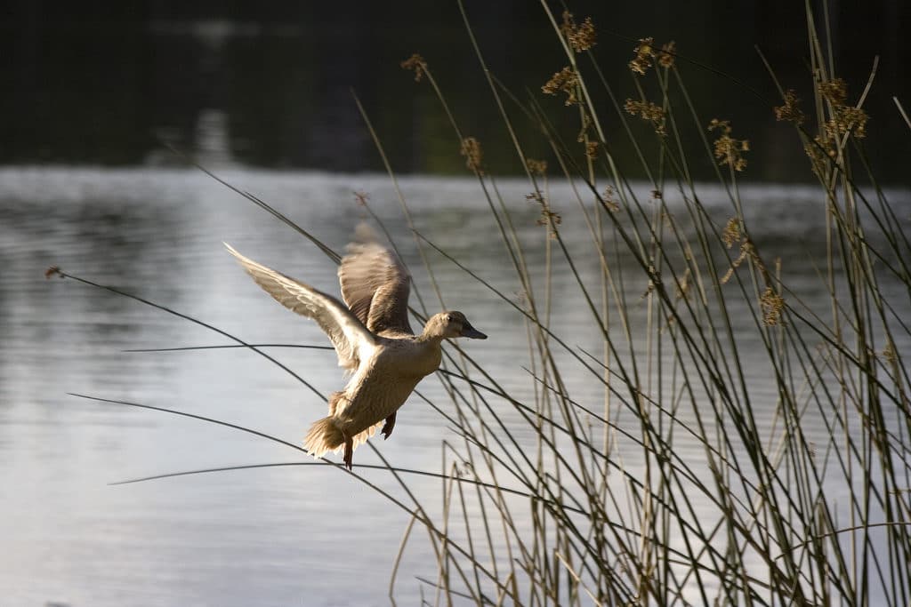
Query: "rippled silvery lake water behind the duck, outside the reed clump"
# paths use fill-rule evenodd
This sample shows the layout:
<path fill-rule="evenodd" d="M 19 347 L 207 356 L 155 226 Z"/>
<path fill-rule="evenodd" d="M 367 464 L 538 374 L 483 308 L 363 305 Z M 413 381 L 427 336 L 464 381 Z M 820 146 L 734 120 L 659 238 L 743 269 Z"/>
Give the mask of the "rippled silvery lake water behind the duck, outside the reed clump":
<path fill-rule="evenodd" d="M 428 308 L 438 308 L 387 177 L 241 169 L 223 176 L 338 251 L 365 215 L 353 192 L 367 193 L 401 246 L 415 288 Z M 499 186 L 521 238 L 534 245 L 529 261 L 540 272 L 544 233 L 536 208 L 527 203 L 527 184 L 507 180 Z M 402 187 L 419 231 L 503 292 L 517 292 L 476 180 L 408 177 Z M 568 187 L 554 185 L 553 195 L 567 240 L 587 238 Z M 722 191 L 703 187 L 701 195 L 723 225 L 730 212 Z M 796 260 L 822 252 L 823 235 L 815 226 L 823 200 L 814 188 L 746 187 L 744 197 L 754 237 L 774 246 L 774 255 Z M 907 193 L 894 200 L 906 218 Z M 337 293 L 328 258 L 199 172 L 0 169 L 0 603 L 388 604 L 394 556 L 409 517 L 363 483 L 341 470 L 307 466 L 112 486 L 162 472 L 312 460 L 199 420 L 67 396 L 187 411 L 300 443 L 312 420 L 324 415 L 324 404 L 268 360 L 245 349 L 127 353 L 230 340 L 128 298 L 43 277 L 56 264 L 252 343 L 325 345 L 312 322 L 281 309 L 251 282 L 222 241 Z M 463 344 L 466 351 L 507 388 L 527 390 L 520 315 L 444 258 L 428 257 L 446 306 L 466 312 L 490 336 Z M 583 272 L 597 268 L 594 259 L 581 261 Z M 808 263 L 794 261 L 788 271 L 798 281 L 807 277 L 808 301 L 824 297 L 809 286 L 815 278 Z M 566 271 L 558 271 L 555 281 L 567 292 L 574 288 Z M 645 285 L 627 288 L 635 299 Z M 598 349 L 597 336 L 586 332 L 589 323 L 580 320 L 586 311 L 578 299 L 555 309 L 554 324 L 568 343 Z M 906 299 L 896 303 L 907 306 Z M 342 384 L 333 352 L 268 351 L 323 394 Z M 438 379 L 425 379 L 420 389 L 445 403 Z M 600 396 L 594 389 L 577 398 L 597 403 Z M 769 411 L 757 412 L 763 414 Z M 521 425 L 508 411 L 505 416 Z M 445 420 L 412 398 L 392 439 L 374 443 L 395 466 L 439 471 L 445 439 L 454 439 Z M 371 450 L 356 451 L 355 471 L 401 495 L 388 472 L 358 469 L 374 463 L 379 460 Z M 438 481 L 409 481 L 428 508 L 439 504 Z M 418 604 L 422 589 L 432 594 L 417 576 L 435 578 L 433 555 L 419 539 L 405 552 L 396 582 L 400 604 Z"/>

